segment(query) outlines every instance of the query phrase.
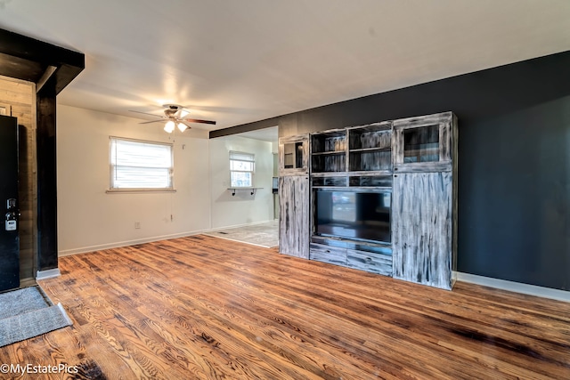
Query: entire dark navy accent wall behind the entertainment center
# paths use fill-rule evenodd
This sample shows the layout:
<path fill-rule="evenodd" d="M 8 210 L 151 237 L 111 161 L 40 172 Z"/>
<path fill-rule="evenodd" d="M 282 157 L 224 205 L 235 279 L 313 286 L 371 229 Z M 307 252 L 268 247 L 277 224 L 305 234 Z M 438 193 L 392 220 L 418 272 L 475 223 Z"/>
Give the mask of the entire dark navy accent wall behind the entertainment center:
<path fill-rule="evenodd" d="M 307 109 L 281 137 L 453 111 L 461 272 L 570 290 L 570 52 Z"/>

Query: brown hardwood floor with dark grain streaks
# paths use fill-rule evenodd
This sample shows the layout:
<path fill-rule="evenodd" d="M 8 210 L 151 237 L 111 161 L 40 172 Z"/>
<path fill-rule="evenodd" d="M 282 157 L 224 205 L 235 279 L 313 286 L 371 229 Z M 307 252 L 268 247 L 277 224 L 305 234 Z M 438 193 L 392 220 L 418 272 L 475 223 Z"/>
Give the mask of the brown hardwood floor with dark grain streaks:
<path fill-rule="evenodd" d="M 60 269 L 41 286 L 73 327 L 0 348 L 0 362 L 78 374 L 22 378 L 570 378 L 570 303 L 206 236 L 62 257 Z"/>

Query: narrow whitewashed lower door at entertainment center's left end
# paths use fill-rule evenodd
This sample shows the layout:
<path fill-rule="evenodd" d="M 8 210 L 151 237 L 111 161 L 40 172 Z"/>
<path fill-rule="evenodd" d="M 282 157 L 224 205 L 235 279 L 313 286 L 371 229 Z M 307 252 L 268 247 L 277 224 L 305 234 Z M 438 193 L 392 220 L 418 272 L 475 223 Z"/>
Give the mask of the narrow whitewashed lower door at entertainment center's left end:
<path fill-rule="evenodd" d="M 279 178 L 279 252 L 309 258 L 309 177 L 284 175 Z"/>

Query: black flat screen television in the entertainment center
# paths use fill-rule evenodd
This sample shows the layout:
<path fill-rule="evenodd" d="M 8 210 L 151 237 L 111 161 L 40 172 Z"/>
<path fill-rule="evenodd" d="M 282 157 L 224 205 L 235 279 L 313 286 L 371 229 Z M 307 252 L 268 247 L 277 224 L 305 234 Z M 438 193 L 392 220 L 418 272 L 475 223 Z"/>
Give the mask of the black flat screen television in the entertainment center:
<path fill-rule="evenodd" d="M 391 242 L 391 191 L 316 190 L 315 234 Z"/>

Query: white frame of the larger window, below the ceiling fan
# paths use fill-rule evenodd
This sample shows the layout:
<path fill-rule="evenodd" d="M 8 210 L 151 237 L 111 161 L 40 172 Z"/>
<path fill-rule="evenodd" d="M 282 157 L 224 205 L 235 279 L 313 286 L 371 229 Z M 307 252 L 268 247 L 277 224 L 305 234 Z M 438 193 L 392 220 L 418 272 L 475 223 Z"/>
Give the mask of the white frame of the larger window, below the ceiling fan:
<path fill-rule="evenodd" d="M 169 150 L 169 162 L 166 162 L 167 166 L 143 166 L 144 163 L 141 165 L 125 165 L 127 167 L 142 167 L 142 168 L 149 168 L 149 169 L 163 169 L 167 170 L 167 182 L 164 183 L 165 186 L 156 187 L 156 186 L 135 186 L 135 187 L 126 187 L 121 186 L 117 183 L 117 175 L 118 175 L 118 162 L 114 162 L 118 159 L 117 157 L 117 148 L 118 143 L 120 144 L 121 141 L 127 143 L 138 143 L 141 145 L 158 145 L 161 147 L 167 147 Z M 113 151 L 115 150 L 115 151 Z M 165 156 L 166 157 L 166 156 Z M 136 163 L 135 163 L 136 164 Z M 169 165 L 168 165 L 169 164 Z M 170 191 L 175 192 L 174 187 L 174 146 L 172 143 L 168 142 L 159 142 L 159 141 L 145 141 L 145 140 L 136 140 L 136 139 L 128 139 L 125 137 L 117 137 L 117 136 L 109 136 L 109 167 L 110 167 L 110 176 L 109 176 L 109 190 L 107 192 L 130 192 L 130 191 Z"/>

